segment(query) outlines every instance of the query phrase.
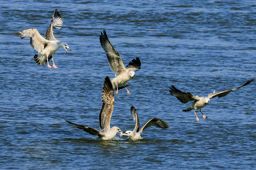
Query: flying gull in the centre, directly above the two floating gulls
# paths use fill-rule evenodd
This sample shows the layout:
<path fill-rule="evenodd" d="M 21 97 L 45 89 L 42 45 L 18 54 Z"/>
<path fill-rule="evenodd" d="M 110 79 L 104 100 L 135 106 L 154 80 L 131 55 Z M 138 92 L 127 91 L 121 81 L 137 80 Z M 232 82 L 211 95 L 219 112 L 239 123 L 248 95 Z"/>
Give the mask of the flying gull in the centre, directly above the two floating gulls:
<path fill-rule="evenodd" d="M 112 69 L 112 71 L 114 71 L 114 74 L 116 76 L 115 78 L 111 79 L 113 89 L 116 90 L 115 94 L 118 94 L 118 90 L 122 88 L 125 88 L 128 94 L 131 94 L 129 90 L 126 88 L 126 83 L 129 80 L 133 79 L 135 75 L 135 70 L 141 69 L 140 59 L 138 57 L 136 59 L 133 59 L 125 68 L 120 55 L 117 51 L 115 51 L 114 47 L 108 40 L 105 29 L 103 31 L 103 34 L 101 32 L 100 43 L 102 48 L 106 52 L 109 66 Z"/>

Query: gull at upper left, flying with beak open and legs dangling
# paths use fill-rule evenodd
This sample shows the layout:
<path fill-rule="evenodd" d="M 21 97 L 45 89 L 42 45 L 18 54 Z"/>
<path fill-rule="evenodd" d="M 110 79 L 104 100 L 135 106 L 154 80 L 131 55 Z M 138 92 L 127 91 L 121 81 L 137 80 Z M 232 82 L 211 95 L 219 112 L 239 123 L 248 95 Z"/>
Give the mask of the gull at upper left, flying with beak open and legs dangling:
<path fill-rule="evenodd" d="M 60 16 L 59 11 L 55 9 L 51 24 L 47 29 L 46 32 L 46 37 L 42 37 L 39 33 L 38 30 L 35 28 L 28 28 L 26 30 L 22 30 L 19 32 L 14 32 L 12 34 L 19 36 L 21 39 L 29 37 L 30 38 L 30 45 L 38 51 L 38 54 L 35 54 L 34 60 L 38 65 L 40 64 L 43 66 L 47 62 L 47 67 L 48 68 L 57 68 L 53 61 L 53 55 L 54 53 L 60 48 L 63 47 L 67 53 L 67 49 L 71 51 L 69 46 L 65 42 L 61 42 L 57 40 L 54 35 L 52 28 L 61 28 L 63 25 L 63 18 Z M 52 59 L 53 66 L 51 67 L 49 65 L 49 60 Z"/>

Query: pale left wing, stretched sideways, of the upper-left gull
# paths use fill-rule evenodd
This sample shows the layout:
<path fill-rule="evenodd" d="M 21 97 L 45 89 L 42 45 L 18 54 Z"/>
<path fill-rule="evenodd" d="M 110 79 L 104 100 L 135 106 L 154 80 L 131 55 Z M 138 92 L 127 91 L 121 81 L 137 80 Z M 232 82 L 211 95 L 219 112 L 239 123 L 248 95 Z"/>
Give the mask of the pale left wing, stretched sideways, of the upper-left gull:
<path fill-rule="evenodd" d="M 38 52 L 42 52 L 43 49 L 49 44 L 49 41 L 44 39 L 35 28 L 28 28 L 19 32 L 12 33 L 19 36 L 21 39 L 29 37 L 30 45 Z"/>

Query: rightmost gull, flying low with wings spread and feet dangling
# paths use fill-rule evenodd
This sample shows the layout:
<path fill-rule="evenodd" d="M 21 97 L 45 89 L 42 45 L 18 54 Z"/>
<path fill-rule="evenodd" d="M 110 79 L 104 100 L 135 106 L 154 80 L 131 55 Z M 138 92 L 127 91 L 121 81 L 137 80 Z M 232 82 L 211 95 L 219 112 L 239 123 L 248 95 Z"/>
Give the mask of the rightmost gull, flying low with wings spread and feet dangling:
<path fill-rule="evenodd" d="M 241 87 L 244 87 L 244 86 L 250 84 L 253 80 L 254 80 L 254 78 L 247 81 L 244 85 L 242 85 L 240 87 L 237 87 L 237 88 L 234 88 L 234 89 L 225 90 L 225 91 L 222 91 L 222 92 L 215 92 L 214 91 L 213 93 L 208 94 L 208 97 L 199 97 L 199 96 L 194 96 L 193 94 L 191 94 L 189 92 L 187 92 L 187 93 L 181 92 L 180 90 L 178 90 L 173 85 L 171 85 L 171 87 L 170 87 L 171 90 L 169 90 L 169 92 L 172 96 L 176 97 L 182 103 L 187 103 L 187 102 L 190 102 L 190 101 L 194 101 L 188 109 L 185 109 L 185 110 L 182 110 L 182 111 L 187 112 L 187 111 L 190 111 L 190 110 L 194 109 L 194 113 L 196 115 L 197 121 L 199 121 L 200 119 L 197 117 L 196 110 L 199 110 L 202 113 L 201 108 L 206 106 L 210 102 L 211 98 L 223 97 L 223 96 L 227 95 L 228 93 L 230 93 L 234 90 L 237 90 Z M 202 115 L 203 115 L 204 119 L 207 119 L 207 117 L 203 113 L 202 113 Z"/>

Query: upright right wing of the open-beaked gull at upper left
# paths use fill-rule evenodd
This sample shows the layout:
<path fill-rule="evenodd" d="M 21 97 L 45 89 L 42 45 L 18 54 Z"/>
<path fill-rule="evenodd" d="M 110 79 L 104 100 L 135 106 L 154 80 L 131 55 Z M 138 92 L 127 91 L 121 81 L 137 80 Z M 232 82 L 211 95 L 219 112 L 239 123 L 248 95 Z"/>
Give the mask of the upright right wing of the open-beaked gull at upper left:
<path fill-rule="evenodd" d="M 55 9 L 53 15 L 52 15 L 52 20 L 51 20 L 51 25 L 48 27 L 47 32 L 45 34 L 45 39 L 47 40 L 56 40 L 56 38 L 53 35 L 52 28 L 61 28 L 63 25 L 63 18 L 60 16 L 59 11 Z"/>

